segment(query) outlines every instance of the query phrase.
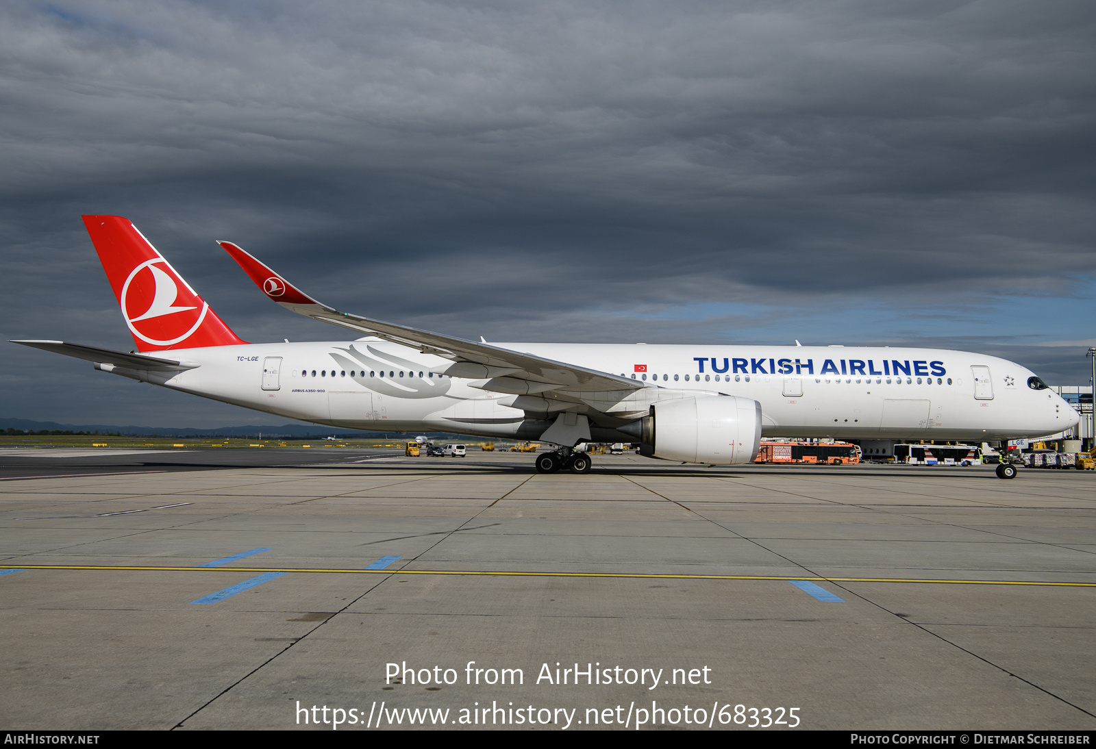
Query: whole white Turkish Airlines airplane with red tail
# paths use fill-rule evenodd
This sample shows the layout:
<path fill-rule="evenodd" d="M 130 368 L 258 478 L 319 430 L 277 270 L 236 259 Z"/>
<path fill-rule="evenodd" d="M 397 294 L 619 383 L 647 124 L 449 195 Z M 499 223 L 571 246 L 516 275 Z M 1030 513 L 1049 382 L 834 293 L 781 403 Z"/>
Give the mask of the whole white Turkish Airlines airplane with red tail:
<path fill-rule="evenodd" d="M 981 441 L 1078 420 L 1031 371 L 964 352 L 464 341 L 340 312 L 219 242 L 270 299 L 356 334 L 249 344 L 127 219 L 83 221 L 138 353 L 13 343 L 305 422 L 536 439 L 558 446 L 537 456 L 544 473 L 589 472 L 590 456 L 573 450 L 585 441 L 638 440 L 653 458 L 733 465 L 756 458 L 762 435 Z"/>

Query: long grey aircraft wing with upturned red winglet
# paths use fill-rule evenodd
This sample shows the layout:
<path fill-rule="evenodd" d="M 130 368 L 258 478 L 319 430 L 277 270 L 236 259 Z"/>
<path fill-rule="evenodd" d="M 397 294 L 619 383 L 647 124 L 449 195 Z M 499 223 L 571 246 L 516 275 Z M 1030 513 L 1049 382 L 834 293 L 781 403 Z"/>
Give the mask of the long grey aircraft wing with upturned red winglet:
<path fill-rule="evenodd" d="M 304 293 L 236 244 L 231 242 L 218 242 L 218 244 L 240 264 L 263 293 L 285 309 L 306 318 L 357 333 L 375 335 L 424 354 L 449 359 L 454 365 L 444 371 L 445 374 L 487 380 L 477 385 L 482 390 L 516 395 L 534 395 L 549 391 L 556 391 L 559 395 L 569 392 L 573 393 L 572 397 L 575 400 L 587 403 L 591 401 L 614 403 L 628 399 L 638 390 L 652 389 L 644 382 L 553 361 L 533 354 L 340 312 Z"/>

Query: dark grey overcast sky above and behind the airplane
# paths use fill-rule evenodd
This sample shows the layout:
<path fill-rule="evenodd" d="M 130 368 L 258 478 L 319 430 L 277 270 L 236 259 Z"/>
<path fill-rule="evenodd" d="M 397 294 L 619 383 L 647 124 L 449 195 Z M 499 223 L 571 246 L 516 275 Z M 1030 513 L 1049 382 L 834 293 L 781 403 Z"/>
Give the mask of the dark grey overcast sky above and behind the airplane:
<path fill-rule="evenodd" d="M 125 216 L 242 338 L 231 240 L 489 341 L 925 345 L 1088 382 L 1096 4 L 0 4 L 3 337 L 128 350 Z M 279 419 L 4 346 L 0 416 Z"/>

